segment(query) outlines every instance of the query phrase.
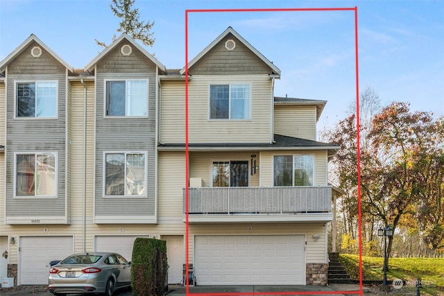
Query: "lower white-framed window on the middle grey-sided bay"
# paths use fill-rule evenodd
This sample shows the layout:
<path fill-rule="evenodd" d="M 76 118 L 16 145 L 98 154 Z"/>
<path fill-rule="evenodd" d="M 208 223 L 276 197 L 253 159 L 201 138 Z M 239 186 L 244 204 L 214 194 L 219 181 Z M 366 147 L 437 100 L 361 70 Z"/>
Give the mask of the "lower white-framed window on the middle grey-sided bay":
<path fill-rule="evenodd" d="M 105 153 L 105 195 L 146 196 L 146 153 Z"/>

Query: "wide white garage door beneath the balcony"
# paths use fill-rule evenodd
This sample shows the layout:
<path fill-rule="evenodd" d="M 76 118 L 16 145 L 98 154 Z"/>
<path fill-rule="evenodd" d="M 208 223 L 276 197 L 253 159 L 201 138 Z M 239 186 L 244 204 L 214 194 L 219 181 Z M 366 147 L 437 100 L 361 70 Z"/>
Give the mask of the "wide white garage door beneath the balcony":
<path fill-rule="evenodd" d="M 198 285 L 305 285 L 305 236 L 195 236 Z"/>

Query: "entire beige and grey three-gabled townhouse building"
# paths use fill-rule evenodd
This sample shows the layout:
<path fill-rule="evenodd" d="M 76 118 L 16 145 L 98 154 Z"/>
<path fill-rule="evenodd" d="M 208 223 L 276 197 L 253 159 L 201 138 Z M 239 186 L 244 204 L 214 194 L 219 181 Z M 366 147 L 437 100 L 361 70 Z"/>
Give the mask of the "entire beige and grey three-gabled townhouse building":
<path fill-rule="evenodd" d="M 170 284 L 187 259 L 199 285 L 327 284 L 326 101 L 276 97 L 231 27 L 182 69 L 126 34 L 75 69 L 31 35 L 0 73 L 0 277 L 151 237 Z"/>

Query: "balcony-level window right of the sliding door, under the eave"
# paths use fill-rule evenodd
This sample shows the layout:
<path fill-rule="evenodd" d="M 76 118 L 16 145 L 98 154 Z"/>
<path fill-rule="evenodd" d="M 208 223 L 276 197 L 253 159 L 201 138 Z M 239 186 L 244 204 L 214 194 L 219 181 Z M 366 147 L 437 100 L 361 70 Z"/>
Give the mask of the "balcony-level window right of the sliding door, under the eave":
<path fill-rule="evenodd" d="M 313 186 L 313 155 L 275 155 L 274 186 Z"/>

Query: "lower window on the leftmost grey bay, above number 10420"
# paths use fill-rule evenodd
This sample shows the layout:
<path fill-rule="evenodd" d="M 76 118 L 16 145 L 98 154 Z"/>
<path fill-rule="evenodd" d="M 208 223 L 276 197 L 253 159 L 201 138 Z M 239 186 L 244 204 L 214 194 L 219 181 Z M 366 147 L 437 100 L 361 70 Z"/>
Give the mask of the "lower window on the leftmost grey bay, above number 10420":
<path fill-rule="evenodd" d="M 55 197 L 57 188 L 56 153 L 15 155 L 15 195 Z"/>

